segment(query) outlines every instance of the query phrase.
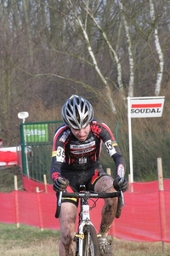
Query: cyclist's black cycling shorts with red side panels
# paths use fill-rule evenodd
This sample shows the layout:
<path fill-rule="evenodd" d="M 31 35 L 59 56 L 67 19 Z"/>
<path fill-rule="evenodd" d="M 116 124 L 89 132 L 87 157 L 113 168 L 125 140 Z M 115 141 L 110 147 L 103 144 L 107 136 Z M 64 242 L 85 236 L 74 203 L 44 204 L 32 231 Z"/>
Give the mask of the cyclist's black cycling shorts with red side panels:
<path fill-rule="evenodd" d="M 80 186 L 83 184 L 88 191 L 94 191 L 94 185 L 99 180 L 100 177 L 108 175 L 102 168 L 102 166 L 96 164 L 88 168 L 86 171 L 76 171 L 76 170 L 66 170 L 61 169 L 62 177 L 65 177 L 69 180 L 69 186 L 67 187 L 67 192 L 80 191 Z M 77 199 L 68 199 L 65 198 L 62 202 L 72 202 L 76 206 L 78 205 Z"/>

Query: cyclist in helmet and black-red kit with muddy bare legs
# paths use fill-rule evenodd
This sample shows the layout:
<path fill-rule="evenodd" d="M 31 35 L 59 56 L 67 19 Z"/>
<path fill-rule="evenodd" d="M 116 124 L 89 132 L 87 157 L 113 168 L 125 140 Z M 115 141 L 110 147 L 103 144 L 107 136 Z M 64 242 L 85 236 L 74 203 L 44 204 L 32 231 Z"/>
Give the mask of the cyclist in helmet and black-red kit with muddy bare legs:
<path fill-rule="evenodd" d="M 94 119 L 90 102 L 82 96 L 71 96 L 63 105 L 62 119 L 64 124 L 55 131 L 52 149 L 51 178 L 57 195 L 65 189 L 77 191 L 82 183 L 86 189 L 95 192 L 114 192 L 119 189 L 125 192 L 125 160 L 110 128 Z M 102 143 L 115 161 L 114 179 L 99 164 Z M 77 200 L 63 199 L 63 202 L 59 215 L 59 256 L 72 256 Z M 99 228 L 100 255 L 113 255 L 107 234 L 116 216 L 116 207 L 117 198 L 105 199 Z"/>

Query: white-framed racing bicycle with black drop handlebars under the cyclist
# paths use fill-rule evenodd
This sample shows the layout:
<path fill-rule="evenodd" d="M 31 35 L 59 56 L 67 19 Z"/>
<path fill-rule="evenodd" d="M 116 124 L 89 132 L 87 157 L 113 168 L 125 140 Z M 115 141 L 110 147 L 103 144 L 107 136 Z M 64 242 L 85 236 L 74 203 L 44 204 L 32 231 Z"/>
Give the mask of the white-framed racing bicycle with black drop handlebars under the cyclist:
<path fill-rule="evenodd" d="M 57 209 L 55 213 L 55 218 L 59 218 L 59 213 L 61 209 L 62 198 L 77 198 L 80 200 L 80 212 L 79 221 L 77 227 L 77 233 L 75 234 L 74 241 L 76 241 L 76 254 L 75 256 L 99 256 L 99 243 L 98 237 L 94 224 L 90 220 L 90 206 L 88 200 L 91 198 L 112 198 L 118 197 L 118 205 L 116 218 L 120 217 L 121 208 L 124 206 L 124 198 L 122 191 L 107 193 L 107 192 L 90 192 L 85 190 L 85 185 L 82 185 L 80 192 L 59 192 L 59 197 L 57 201 Z M 94 205 L 96 201 L 94 202 Z M 95 207 L 95 206 L 94 206 Z M 92 207 L 93 208 L 93 207 Z"/>

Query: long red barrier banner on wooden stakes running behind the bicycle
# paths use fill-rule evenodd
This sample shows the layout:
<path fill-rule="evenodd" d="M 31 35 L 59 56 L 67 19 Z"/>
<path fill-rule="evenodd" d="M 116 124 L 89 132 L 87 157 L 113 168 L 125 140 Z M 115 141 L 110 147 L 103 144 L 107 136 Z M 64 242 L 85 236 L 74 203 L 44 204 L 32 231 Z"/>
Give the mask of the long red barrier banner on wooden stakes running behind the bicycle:
<path fill-rule="evenodd" d="M 59 230 L 59 220 L 54 218 L 56 196 L 52 191 L 0 193 L 0 222 Z M 125 207 L 121 217 L 114 220 L 110 235 L 129 241 L 170 242 L 170 180 L 164 180 L 164 191 L 158 190 L 157 182 L 133 183 L 133 192 L 127 191 L 124 196 Z M 103 201 L 99 200 L 91 211 L 97 231 L 102 206 Z"/>

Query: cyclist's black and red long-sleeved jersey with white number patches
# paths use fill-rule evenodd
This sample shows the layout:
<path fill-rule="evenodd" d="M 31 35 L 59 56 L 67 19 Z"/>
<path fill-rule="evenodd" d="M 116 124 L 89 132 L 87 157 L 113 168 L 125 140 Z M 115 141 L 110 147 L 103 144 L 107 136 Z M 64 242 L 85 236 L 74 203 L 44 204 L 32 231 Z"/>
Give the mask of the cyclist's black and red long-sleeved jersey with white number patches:
<path fill-rule="evenodd" d="M 61 168 L 84 172 L 95 166 L 99 161 L 102 143 L 105 144 L 108 154 L 115 161 L 116 175 L 124 176 L 125 160 L 110 128 L 98 120 L 93 120 L 90 127 L 91 130 L 84 142 L 78 141 L 65 124 L 55 131 L 51 165 L 53 180 L 57 177 L 57 173 L 60 173 Z"/>

